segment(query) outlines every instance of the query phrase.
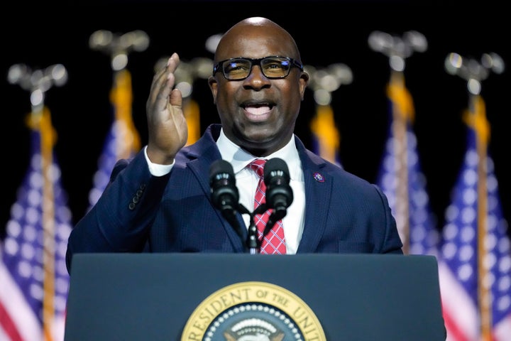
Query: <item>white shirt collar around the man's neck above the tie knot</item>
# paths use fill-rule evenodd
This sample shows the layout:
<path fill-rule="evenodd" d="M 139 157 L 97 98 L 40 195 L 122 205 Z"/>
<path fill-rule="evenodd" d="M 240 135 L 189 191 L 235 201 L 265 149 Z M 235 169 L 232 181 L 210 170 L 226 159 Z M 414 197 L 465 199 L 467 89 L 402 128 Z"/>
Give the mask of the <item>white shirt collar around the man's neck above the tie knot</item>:
<path fill-rule="evenodd" d="M 224 134 L 224 129 L 220 131 L 216 146 L 219 148 L 221 157 L 231 163 L 234 173 L 242 171 L 248 163 L 257 158 L 229 140 Z M 292 180 L 300 180 L 302 178 L 300 156 L 298 155 L 294 135 L 284 147 L 265 157 L 267 160 L 270 158 L 282 158 L 287 163 Z"/>

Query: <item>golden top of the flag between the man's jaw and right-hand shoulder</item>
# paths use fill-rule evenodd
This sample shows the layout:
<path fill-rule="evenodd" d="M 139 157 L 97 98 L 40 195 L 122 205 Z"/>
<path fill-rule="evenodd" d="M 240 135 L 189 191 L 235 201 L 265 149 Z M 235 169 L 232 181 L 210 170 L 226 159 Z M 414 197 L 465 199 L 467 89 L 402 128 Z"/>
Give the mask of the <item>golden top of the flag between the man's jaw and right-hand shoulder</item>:
<path fill-rule="evenodd" d="M 316 116 L 310 122 L 312 148 L 322 158 L 341 166 L 339 146 L 341 134 L 336 128 L 334 110 L 330 105 L 318 104 Z"/>

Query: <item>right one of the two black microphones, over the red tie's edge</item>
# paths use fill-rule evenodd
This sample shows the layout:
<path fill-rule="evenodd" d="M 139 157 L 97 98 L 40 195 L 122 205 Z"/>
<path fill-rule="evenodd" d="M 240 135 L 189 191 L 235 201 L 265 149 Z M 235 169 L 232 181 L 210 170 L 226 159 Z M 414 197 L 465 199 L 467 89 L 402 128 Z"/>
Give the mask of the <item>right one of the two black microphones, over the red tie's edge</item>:
<path fill-rule="evenodd" d="M 275 221 L 285 217 L 287 207 L 293 200 L 289 168 L 282 158 L 270 158 L 264 168 L 264 182 L 266 185 L 266 206 L 273 208 L 272 216 Z"/>

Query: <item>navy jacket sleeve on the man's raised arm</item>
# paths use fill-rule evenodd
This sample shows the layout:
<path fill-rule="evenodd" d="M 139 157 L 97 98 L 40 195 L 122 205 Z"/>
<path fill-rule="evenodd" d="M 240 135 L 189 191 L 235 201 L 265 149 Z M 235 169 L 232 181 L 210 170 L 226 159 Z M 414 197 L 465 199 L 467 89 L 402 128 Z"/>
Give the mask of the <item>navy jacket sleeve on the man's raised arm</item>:
<path fill-rule="evenodd" d="M 143 151 L 117 161 L 109 185 L 70 234 L 66 265 L 79 252 L 142 251 L 169 175 L 153 176 Z"/>

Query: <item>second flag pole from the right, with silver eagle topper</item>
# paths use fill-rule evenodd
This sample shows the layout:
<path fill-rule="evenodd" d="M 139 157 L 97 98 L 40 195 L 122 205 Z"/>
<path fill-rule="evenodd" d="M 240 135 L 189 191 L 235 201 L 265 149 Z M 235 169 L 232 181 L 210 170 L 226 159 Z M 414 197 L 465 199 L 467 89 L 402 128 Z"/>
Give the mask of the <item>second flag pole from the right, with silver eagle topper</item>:
<path fill-rule="evenodd" d="M 395 169 L 395 203 L 392 211 L 395 215 L 397 230 L 402 240 L 402 250 L 410 252 L 410 198 L 408 174 L 408 143 L 407 131 L 414 121 L 414 104 L 412 95 L 405 86 L 405 60 L 415 51 L 427 50 L 427 39 L 417 31 L 407 31 L 402 37 L 392 36 L 382 31 L 373 31 L 368 38 L 373 50 L 383 53 L 389 58 L 390 80 L 387 85 L 387 96 L 392 102 L 392 118 L 390 122 L 393 136 L 393 158 Z"/>

